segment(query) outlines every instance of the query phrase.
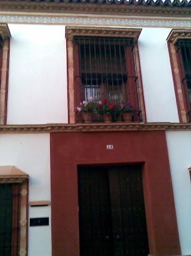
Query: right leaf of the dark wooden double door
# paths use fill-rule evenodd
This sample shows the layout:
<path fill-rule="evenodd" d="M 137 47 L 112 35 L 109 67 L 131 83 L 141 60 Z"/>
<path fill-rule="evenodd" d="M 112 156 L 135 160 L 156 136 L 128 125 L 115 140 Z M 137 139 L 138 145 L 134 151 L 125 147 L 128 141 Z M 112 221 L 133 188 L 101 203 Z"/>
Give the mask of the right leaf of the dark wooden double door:
<path fill-rule="evenodd" d="M 132 165 L 110 171 L 110 173 L 115 177 L 114 182 L 118 180 L 115 182 L 115 186 L 118 186 L 116 190 L 119 191 L 119 207 L 115 209 L 115 212 L 120 211 L 122 219 L 122 226 L 119 230 L 119 236 L 117 236 L 119 241 L 114 240 L 114 244 L 123 250 L 121 254 L 116 255 L 147 255 L 149 249 L 141 170 L 137 165 Z M 110 198 L 113 200 L 113 197 Z M 115 216 L 112 219 L 115 223 Z"/>

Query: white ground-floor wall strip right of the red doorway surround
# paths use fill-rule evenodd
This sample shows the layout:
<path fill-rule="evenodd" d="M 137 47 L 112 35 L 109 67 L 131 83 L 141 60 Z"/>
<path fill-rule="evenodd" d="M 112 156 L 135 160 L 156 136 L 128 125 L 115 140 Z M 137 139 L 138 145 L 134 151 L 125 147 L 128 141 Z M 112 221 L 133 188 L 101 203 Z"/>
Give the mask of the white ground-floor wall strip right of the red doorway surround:
<path fill-rule="evenodd" d="M 187 170 L 191 166 L 191 131 L 166 134 L 181 254 L 191 255 L 191 184 Z"/>

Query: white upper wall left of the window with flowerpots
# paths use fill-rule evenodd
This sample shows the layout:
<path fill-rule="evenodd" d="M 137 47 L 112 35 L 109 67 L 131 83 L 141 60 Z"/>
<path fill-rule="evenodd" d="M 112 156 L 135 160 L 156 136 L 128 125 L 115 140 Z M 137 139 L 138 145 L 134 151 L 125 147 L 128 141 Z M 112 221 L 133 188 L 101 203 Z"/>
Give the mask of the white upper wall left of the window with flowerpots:
<path fill-rule="evenodd" d="M 67 123 L 65 26 L 8 26 L 7 124 Z"/>

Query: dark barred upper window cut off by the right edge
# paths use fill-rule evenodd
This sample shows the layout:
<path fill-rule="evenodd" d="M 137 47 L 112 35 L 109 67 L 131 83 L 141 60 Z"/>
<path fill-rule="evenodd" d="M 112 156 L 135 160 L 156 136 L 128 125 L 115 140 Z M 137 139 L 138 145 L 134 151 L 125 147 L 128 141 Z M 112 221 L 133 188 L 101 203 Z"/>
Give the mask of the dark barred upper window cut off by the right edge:
<path fill-rule="evenodd" d="M 177 46 L 183 94 L 186 101 L 187 115 L 189 115 L 189 121 L 191 121 L 191 40 L 178 40 Z"/>

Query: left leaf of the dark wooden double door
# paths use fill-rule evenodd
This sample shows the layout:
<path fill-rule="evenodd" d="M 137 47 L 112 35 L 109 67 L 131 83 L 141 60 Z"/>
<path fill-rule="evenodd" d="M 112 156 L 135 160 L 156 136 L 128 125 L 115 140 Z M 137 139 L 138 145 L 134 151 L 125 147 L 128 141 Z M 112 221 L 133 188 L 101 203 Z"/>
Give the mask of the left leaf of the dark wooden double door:
<path fill-rule="evenodd" d="M 107 173 L 83 168 L 78 174 L 80 254 L 113 255 Z"/>

